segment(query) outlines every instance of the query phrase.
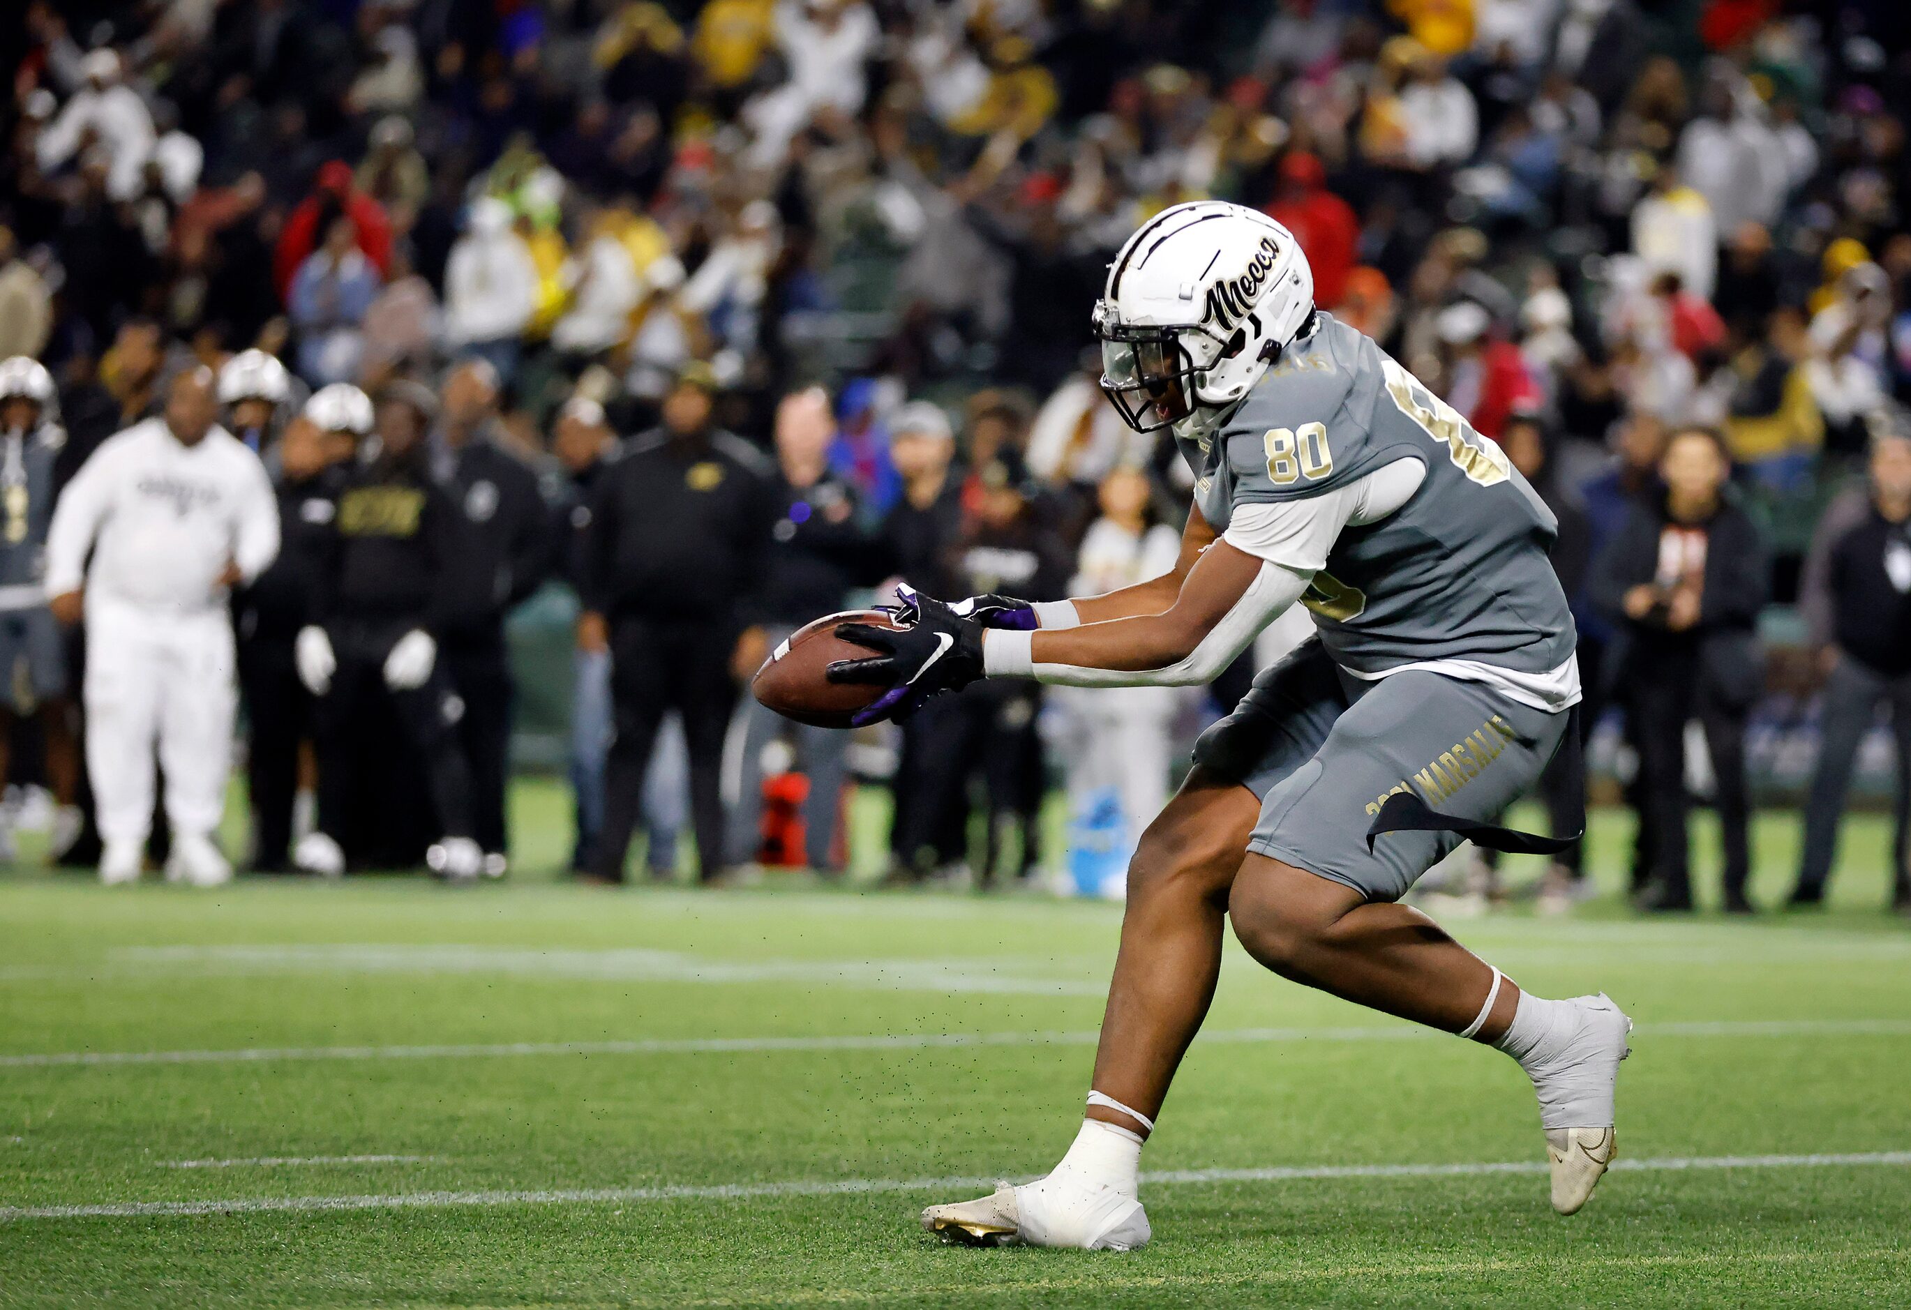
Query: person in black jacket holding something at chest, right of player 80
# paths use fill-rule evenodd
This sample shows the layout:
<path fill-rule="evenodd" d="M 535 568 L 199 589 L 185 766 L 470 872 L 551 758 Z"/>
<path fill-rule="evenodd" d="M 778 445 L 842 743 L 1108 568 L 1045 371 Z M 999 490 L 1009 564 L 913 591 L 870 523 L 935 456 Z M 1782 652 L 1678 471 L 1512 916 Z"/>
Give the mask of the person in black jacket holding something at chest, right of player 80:
<path fill-rule="evenodd" d="M 1758 611 L 1768 565 L 1758 529 L 1726 489 L 1710 428 L 1672 433 L 1666 491 L 1638 504 L 1594 567 L 1594 602 L 1621 624 L 1619 695 L 1640 750 L 1642 823 L 1653 827 L 1645 909 L 1691 909 L 1686 722 L 1705 728 L 1726 848 L 1726 909 L 1747 913 L 1750 875 L 1745 722 L 1764 682 Z"/>

